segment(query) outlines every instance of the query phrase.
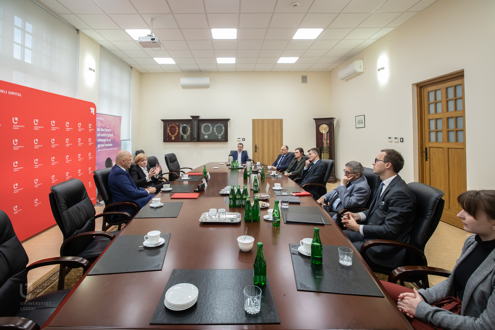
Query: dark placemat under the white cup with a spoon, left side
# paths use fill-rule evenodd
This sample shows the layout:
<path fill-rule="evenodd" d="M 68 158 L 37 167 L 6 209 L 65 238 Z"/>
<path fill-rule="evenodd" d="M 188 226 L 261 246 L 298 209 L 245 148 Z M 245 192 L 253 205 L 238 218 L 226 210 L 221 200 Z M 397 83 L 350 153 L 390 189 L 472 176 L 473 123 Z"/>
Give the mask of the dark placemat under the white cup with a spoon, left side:
<path fill-rule="evenodd" d="M 144 235 L 119 235 L 88 275 L 160 271 L 171 234 L 161 234 L 165 242 L 155 247 L 143 245 Z"/>

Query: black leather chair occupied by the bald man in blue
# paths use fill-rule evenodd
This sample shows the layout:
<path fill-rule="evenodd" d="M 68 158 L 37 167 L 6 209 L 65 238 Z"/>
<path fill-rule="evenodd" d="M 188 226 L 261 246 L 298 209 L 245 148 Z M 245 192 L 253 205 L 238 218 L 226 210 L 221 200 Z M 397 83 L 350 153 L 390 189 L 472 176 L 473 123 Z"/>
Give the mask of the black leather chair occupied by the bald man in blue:
<path fill-rule="evenodd" d="M 93 179 L 95 180 L 96 187 L 99 191 L 99 195 L 103 198 L 105 202 L 105 208 L 103 209 L 103 222 L 101 224 L 101 230 L 106 231 L 112 226 L 118 225 L 120 230 L 122 224 L 126 224 L 131 220 L 132 216 L 139 212 L 140 207 L 134 202 L 118 202 L 112 203 L 112 193 L 108 188 L 108 175 L 111 169 L 105 168 L 101 170 L 93 171 Z M 119 207 L 132 207 L 134 209 L 134 214 L 128 214 L 126 212 L 120 212 L 118 214 L 110 214 L 110 212 L 115 212 L 119 210 Z"/>

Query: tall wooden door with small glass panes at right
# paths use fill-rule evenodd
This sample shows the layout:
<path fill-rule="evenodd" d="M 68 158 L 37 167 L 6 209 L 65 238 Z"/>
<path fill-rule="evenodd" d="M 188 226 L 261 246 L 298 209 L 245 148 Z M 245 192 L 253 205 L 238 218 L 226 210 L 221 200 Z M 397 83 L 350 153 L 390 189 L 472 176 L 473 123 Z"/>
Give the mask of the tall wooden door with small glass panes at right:
<path fill-rule="evenodd" d="M 418 87 L 420 182 L 444 191 L 442 221 L 463 228 L 457 196 L 467 189 L 464 73 Z"/>

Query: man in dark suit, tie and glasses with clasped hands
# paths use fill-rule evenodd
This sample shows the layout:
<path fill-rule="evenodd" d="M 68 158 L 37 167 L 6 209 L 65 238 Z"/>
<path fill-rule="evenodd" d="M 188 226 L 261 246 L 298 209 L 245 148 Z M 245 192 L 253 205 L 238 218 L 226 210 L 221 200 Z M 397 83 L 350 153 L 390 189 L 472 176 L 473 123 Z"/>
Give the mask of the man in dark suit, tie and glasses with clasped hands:
<path fill-rule="evenodd" d="M 382 183 L 370 208 L 361 213 L 347 212 L 342 223 L 346 235 L 358 251 L 361 245 L 373 238 L 393 239 L 409 243 L 416 214 L 416 197 L 397 174 L 404 166 L 404 158 L 394 149 L 383 149 L 373 162 L 373 173 Z M 364 221 L 364 225 L 356 221 Z M 396 268 L 405 256 L 405 249 L 376 246 L 368 250 L 370 260 L 376 264 Z"/>

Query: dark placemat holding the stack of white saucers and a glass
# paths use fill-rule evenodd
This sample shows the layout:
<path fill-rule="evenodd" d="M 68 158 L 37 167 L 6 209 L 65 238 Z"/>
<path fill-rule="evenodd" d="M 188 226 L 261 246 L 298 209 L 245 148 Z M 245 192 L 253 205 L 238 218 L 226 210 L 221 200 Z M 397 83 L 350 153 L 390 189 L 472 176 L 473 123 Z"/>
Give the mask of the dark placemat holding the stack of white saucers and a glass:
<path fill-rule="evenodd" d="M 174 269 L 149 324 L 280 324 L 270 283 L 261 288 L 261 310 L 244 310 L 244 288 L 252 285 L 252 269 Z M 198 287 L 198 301 L 184 311 L 165 307 L 165 293 L 178 283 Z"/>

